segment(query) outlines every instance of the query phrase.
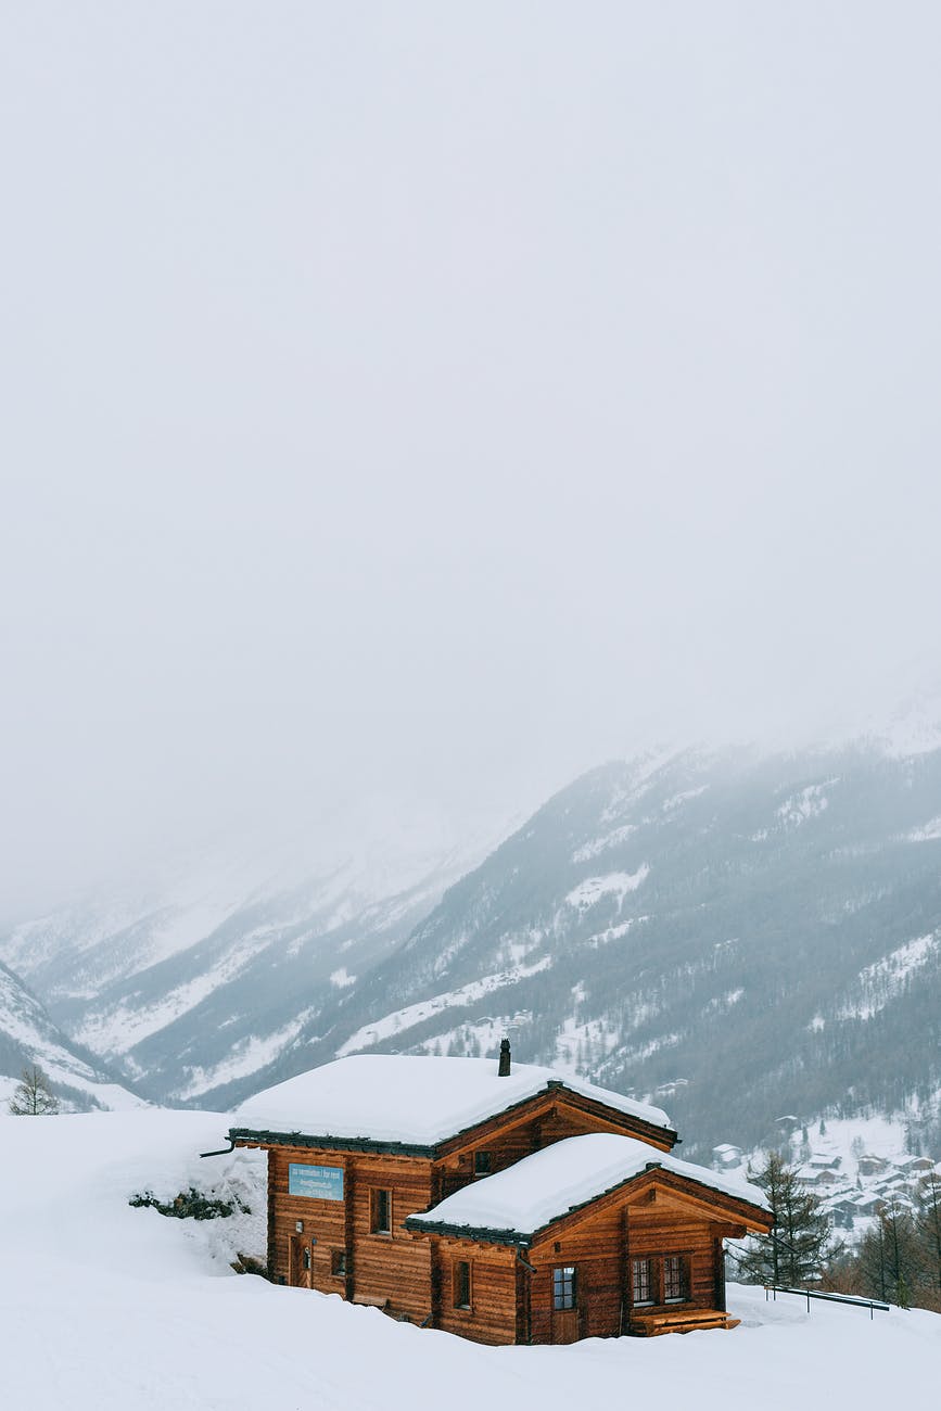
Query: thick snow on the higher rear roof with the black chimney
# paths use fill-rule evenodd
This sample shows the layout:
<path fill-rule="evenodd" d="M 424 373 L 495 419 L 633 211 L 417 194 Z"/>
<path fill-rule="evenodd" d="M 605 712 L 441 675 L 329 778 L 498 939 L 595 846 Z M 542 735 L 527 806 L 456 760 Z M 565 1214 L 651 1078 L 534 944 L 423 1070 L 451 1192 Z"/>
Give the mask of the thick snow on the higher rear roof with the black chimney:
<path fill-rule="evenodd" d="M 312 1068 L 248 1098 L 234 1115 L 253 1132 L 435 1146 L 545 1092 L 550 1082 L 672 1130 L 659 1108 L 552 1068 L 514 1062 L 509 1077 L 499 1078 L 495 1058 L 398 1054 L 356 1054 Z"/>

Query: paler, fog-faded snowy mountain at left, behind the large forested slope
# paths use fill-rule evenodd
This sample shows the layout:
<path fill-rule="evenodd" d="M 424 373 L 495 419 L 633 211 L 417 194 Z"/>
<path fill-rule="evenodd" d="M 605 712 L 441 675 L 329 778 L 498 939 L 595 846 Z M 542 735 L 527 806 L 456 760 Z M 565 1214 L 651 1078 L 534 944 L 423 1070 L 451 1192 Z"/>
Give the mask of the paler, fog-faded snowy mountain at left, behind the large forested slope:
<path fill-rule="evenodd" d="M 377 809 L 356 849 L 337 842 L 315 875 L 303 849 L 289 868 L 190 869 L 23 923 L 0 955 L 140 1092 L 205 1105 L 295 1046 L 484 849 L 459 847 L 436 818 L 394 827 Z"/>

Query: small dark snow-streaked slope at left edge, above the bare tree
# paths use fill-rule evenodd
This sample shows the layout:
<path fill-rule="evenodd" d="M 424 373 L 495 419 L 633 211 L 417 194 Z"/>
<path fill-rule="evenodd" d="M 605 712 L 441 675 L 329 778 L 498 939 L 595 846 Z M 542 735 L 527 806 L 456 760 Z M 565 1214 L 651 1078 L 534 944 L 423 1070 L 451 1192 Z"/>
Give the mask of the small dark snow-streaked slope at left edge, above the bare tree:
<path fill-rule="evenodd" d="M 38 1064 L 65 1109 L 145 1106 L 87 1051 L 56 1029 L 25 985 L 0 965 L 0 1110 L 23 1070 Z"/>

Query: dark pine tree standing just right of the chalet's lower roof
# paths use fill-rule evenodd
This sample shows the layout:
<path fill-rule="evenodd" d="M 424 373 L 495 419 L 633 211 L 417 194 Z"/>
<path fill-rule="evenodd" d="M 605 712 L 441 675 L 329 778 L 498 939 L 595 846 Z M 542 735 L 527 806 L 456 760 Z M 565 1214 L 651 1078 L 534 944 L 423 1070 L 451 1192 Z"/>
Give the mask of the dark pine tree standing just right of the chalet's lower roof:
<path fill-rule="evenodd" d="M 763 1167 L 749 1175 L 767 1197 L 775 1229 L 752 1240 L 739 1266 L 742 1278 L 779 1288 L 818 1280 L 839 1247 L 818 1198 L 779 1151 L 769 1151 Z"/>

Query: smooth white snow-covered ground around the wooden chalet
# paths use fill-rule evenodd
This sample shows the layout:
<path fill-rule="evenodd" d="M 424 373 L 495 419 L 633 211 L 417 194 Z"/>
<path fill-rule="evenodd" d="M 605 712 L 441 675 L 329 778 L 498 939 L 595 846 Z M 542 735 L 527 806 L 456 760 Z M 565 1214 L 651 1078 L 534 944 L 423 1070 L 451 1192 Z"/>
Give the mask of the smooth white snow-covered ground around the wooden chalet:
<path fill-rule="evenodd" d="M 200 1225 L 131 1209 L 196 1178 L 260 1189 L 260 1158 L 199 1161 L 229 1125 L 203 1112 L 18 1118 L 0 1126 L 0 1405 L 17 1411 L 454 1411 L 670 1401 L 700 1411 L 931 1405 L 941 1318 L 868 1314 L 732 1287 L 734 1332 L 478 1348 L 337 1297 L 229 1268 L 264 1211 Z M 257 1197 L 255 1197 L 257 1199 Z"/>

